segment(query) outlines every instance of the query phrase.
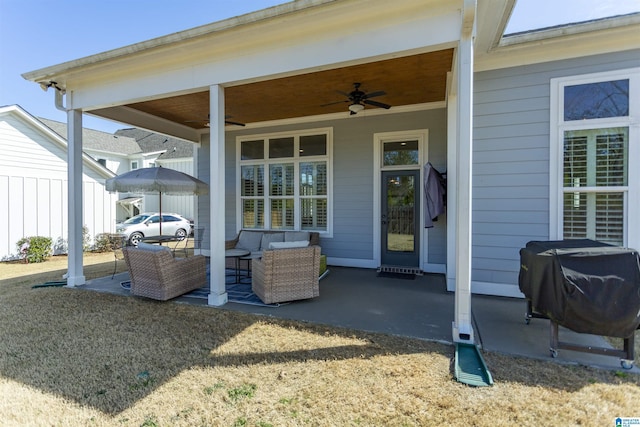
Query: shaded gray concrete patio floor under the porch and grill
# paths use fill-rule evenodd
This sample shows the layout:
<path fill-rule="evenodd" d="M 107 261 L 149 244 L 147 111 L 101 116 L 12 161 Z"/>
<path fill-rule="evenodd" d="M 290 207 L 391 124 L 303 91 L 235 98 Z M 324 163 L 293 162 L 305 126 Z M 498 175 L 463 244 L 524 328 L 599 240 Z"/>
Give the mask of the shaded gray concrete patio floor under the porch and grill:
<path fill-rule="evenodd" d="M 233 310 L 275 318 L 300 320 L 368 332 L 452 342 L 454 294 L 446 291 L 440 274 L 416 276 L 415 280 L 377 277 L 375 270 L 329 267 L 330 273 L 320 282 L 320 296 L 279 307 L 260 307 L 227 303 L 212 310 Z M 129 280 L 128 273 L 113 279 L 104 277 L 88 281 L 81 289 L 130 295 L 120 286 Z M 207 305 L 201 298 L 178 297 L 173 302 Z M 476 344 L 485 351 L 619 370 L 620 359 L 582 351 L 559 350 L 550 356 L 549 320 L 525 322 L 523 299 L 474 295 L 472 313 Z M 591 347 L 610 347 L 600 336 L 578 334 L 560 328 L 560 341 Z M 640 373 L 634 366 L 627 372 Z"/>

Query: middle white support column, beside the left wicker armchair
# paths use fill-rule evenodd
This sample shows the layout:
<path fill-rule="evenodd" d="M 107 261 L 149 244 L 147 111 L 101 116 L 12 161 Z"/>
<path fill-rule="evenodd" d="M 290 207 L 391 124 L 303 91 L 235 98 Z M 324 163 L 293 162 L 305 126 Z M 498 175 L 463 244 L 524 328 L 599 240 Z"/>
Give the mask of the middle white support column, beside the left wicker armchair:
<path fill-rule="evenodd" d="M 224 137 L 224 88 L 213 85 L 209 88 L 209 125 L 211 129 L 210 137 L 210 158 L 209 170 L 211 180 L 209 183 L 209 247 L 210 275 L 209 275 L 209 305 L 220 306 L 227 303 L 227 292 L 225 289 L 225 137 Z"/>

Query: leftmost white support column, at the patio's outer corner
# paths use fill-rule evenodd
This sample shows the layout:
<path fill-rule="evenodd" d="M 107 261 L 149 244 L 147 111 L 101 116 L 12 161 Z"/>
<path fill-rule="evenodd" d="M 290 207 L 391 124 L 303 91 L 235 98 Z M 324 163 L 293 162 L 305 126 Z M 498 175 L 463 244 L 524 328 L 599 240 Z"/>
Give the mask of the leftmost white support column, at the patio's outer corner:
<path fill-rule="evenodd" d="M 69 229 L 69 258 L 67 260 L 67 286 L 83 285 L 85 277 L 82 267 L 82 111 L 67 111 L 67 220 Z"/>

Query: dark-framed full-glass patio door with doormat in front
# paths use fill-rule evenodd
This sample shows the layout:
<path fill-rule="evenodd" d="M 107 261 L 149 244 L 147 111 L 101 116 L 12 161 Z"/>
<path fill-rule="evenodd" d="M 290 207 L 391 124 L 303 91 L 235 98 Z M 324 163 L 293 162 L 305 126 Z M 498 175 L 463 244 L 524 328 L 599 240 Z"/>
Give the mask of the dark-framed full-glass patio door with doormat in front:
<path fill-rule="evenodd" d="M 419 170 L 382 172 L 380 220 L 383 265 L 419 265 L 419 181 Z"/>

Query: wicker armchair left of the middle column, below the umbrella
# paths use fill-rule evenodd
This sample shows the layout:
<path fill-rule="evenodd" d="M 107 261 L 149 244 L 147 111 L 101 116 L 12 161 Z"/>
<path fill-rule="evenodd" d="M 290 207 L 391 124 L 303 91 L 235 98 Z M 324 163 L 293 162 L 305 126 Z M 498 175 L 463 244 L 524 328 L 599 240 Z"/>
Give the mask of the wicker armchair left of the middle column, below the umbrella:
<path fill-rule="evenodd" d="M 206 285 L 204 256 L 174 258 L 168 247 L 155 248 L 123 249 L 133 295 L 166 301 Z"/>

